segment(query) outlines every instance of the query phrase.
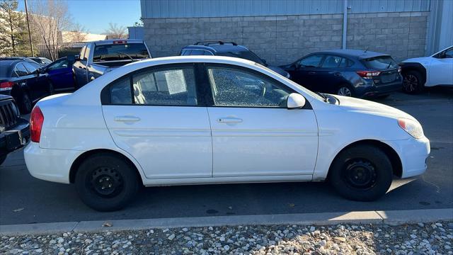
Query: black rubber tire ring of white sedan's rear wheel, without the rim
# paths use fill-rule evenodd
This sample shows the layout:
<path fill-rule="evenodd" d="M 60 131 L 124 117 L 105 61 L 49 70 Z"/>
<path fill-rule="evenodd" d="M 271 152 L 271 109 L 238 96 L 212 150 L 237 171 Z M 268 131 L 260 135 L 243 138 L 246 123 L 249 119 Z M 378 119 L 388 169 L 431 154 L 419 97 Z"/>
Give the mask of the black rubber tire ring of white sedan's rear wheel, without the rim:
<path fill-rule="evenodd" d="M 102 198 L 86 187 L 86 178 L 99 166 L 113 167 L 122 176 L 124 188 L 117 196 L 113 198 Z M 115 154 L 94 154 L 85 159 L 76 172 L 76 191 L 79 193 L 81 200 L 94 210 L 101 212 L 120 210 L 130 203 L 139 190 L 139 180 L 136 171 L 134 166 L 126 162 L 125 159 L 117 157 Z"/>

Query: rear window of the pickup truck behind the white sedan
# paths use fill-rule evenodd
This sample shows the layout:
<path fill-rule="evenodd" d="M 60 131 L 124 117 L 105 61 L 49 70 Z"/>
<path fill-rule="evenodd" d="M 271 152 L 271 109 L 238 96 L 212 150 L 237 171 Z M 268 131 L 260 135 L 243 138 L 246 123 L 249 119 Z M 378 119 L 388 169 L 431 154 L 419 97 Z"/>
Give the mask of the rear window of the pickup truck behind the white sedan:
<path fill-rule="evenodd" d="M 143 43 L 124 43 L 115 45 L 96 45 L 93 62 L 134 60 L 148 58 L 147 47 Z"/>

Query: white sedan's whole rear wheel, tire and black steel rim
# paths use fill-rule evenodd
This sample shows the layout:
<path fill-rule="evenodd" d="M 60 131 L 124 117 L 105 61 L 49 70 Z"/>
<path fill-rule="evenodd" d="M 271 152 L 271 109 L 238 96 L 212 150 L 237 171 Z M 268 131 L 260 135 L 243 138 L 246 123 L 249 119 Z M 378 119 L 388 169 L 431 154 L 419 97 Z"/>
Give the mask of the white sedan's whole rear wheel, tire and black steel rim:
<path fill-rule="evenodd" d="M 124 208 L 139 188 L 136 170 L 114 154 L 95 154 L 76 172 L 76 190 L 90 208 L 113 211 Z"/>

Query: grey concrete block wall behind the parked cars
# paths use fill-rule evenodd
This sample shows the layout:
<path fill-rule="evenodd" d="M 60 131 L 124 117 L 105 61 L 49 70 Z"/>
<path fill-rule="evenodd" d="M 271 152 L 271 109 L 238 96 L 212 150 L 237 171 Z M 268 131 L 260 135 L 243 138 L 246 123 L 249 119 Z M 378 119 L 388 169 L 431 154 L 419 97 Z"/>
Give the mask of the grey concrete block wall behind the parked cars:
<path fill-rule="evenodd" d="M 347 47 L 389 53 L 400 61 L 424 55 L 429 12 L 348 16 Z M 178 55 L 202 40 L 234 41 L 270 64 L 341 48 L 343 14 L 216 18 L 147 18 L 144 40 L 154 57 Z"/>

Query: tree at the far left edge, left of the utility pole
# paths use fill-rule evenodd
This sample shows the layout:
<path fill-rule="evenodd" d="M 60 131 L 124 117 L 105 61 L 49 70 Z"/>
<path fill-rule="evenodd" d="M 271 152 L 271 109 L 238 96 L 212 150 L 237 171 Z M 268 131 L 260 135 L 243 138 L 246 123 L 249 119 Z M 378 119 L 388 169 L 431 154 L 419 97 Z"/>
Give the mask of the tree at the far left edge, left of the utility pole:
<path fill-rule="evenodd" d="M 25 14 L 17 8 L 18 0 L 0 0 L 0 55 L 31 55 Z"/>

